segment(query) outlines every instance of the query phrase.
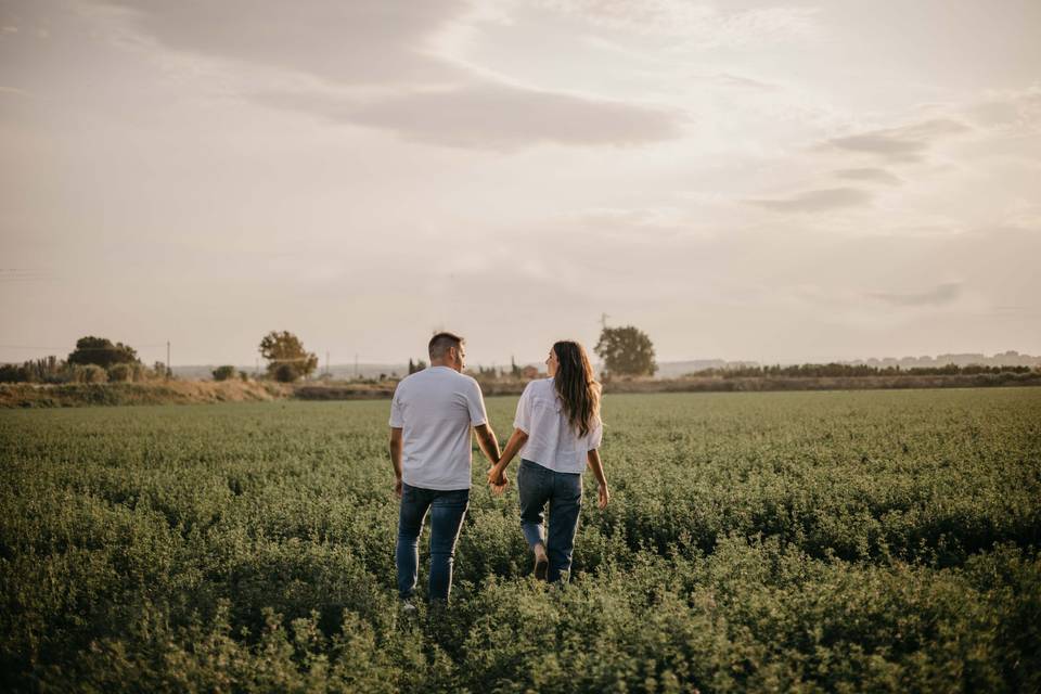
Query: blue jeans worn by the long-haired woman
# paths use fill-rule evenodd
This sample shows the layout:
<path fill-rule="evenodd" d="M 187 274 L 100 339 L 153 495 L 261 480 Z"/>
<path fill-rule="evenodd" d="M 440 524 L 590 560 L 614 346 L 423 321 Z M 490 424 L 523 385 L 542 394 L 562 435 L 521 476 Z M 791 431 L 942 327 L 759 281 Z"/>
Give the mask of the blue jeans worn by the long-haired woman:
<path fill-rule="evenodd" d="M 529 460 L 517 471 L 520 530 L 530 547 L 542 542 L 550 558 L 547 579 L 558 581 L 571 570 L 578 514 L 582 510 L 582 476 L 557 473 Z M 543 510 L 550 505 L 549 538 L 543 536 Z"/>

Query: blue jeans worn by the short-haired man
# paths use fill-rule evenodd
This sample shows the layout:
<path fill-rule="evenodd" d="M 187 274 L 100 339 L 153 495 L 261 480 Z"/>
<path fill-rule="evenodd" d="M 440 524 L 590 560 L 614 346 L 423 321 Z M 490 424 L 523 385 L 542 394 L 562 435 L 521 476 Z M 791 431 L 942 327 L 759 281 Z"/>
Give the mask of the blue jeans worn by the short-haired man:
<path fill-rule="evenodd" d="M 452 590 L 452 562 L 455 542 L 463 527 L 470 489 L 441 491 L 401 485 L 401 511 L 398 516 L 398 595 L 402 600 L 415 593 L 420 564 L 420 534 L 430 512 L 430 582 L 427 600 L 448 601 Z"/>

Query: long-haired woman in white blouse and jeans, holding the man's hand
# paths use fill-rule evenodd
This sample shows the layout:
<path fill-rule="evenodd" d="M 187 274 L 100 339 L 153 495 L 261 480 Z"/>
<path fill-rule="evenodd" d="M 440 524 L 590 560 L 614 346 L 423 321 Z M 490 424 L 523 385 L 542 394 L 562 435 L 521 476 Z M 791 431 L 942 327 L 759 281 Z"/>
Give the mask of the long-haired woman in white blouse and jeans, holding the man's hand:
<path fill-rule="evenodd" d="M 586 350 L 576 342 L 558 342 L 550 349 L 545 367 L 550 377 L 529 383 L 517 402 L 513 436 L 499 463 L 488 472 L 488 483 L 501 493 L 506 486 L 505 470 L 520 452 L 520 529 L 535 553 L 536 578 L 552 582 L 571 568 L 587 465 L 600 485 L 601 509 L 607 505 L 611 492 L 597 452 L 603 438 L 601 389 Z M 543 534 L 547 503 L 548 537 Z"/>

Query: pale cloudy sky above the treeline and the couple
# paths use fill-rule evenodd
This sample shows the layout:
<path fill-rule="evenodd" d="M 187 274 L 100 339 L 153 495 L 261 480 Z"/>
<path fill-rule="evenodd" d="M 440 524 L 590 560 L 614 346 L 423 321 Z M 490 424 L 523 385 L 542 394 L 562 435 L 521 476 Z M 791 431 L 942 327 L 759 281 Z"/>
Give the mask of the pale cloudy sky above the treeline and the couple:
<path fill-rule="evenodd" d="M 0 361 L 1041 352 L 1037 0 L 0 0 Z"/>

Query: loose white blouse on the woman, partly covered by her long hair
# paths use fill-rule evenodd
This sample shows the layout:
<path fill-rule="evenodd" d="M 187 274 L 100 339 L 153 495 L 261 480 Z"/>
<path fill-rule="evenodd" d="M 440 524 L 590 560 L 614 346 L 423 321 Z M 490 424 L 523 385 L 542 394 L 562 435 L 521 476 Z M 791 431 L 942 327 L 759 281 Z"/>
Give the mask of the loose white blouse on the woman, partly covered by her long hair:
<path fill-rule="evenodd" d="M 520 395 L 514 428 L 528 435 L 520 458 L 558 473 L 586 471 L 586 454 L 600 448 L 604 426 L 597 419 L 586 436 L 571 428 L 553 378 L 532 381 Z"/>

